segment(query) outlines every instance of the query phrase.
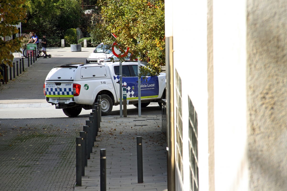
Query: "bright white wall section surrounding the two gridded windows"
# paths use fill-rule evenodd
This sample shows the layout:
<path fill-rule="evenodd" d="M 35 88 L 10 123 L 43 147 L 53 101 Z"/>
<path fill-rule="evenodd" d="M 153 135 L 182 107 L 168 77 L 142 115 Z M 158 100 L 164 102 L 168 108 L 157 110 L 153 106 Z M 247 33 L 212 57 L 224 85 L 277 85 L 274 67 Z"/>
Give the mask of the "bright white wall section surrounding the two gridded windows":
<path fill-rule="evenodd" d="M 190 179 L 188 148 L 189 96 L 198 116 L 199 190 L 208 190 L 207 1 L 174 0 L 173 11 L 174 72 L 177 70 L 181 77 L 183 100 L 184 181 L 182 189 L 189 190 Z M 176 84 L 175 81 L 174 84 Z M 176 103 L 176 96 L 174 99 Z"/>

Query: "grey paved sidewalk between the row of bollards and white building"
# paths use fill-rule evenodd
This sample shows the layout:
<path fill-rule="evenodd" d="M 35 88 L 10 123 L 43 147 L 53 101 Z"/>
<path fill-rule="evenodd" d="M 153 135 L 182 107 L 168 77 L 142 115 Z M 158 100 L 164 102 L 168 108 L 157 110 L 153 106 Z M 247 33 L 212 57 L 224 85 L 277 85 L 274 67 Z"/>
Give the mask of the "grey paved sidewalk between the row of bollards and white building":
<path fill-rule="evenodd" d="M 82 186 L 75 191 L 100 191 L 100 149 L 106 149 L 106 190 L 162 191 L 167 188 L 166 136 L 161 115 L 104 117 Z M 137 183 L 137 141 L 142 137 L 143 178 Z"/>

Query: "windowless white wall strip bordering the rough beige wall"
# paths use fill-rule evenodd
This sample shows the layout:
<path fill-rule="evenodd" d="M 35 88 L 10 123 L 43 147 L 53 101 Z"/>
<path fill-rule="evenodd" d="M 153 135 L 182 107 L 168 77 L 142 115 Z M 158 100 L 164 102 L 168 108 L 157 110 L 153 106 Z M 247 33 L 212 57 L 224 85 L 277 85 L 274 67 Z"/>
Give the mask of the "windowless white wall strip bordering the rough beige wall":
<path fill-rule="evenodd" d="M 246 2 L 213 1 L 215 190 L 248 190 Z"/>

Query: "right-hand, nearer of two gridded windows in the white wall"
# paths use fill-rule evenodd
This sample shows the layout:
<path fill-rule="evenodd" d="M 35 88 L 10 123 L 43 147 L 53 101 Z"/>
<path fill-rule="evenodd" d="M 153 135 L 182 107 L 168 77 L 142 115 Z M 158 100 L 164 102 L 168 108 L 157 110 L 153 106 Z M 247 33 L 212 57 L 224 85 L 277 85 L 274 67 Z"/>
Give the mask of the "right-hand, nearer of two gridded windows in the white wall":
<path fill-rule="evenodd" d="M 188 98 L 189 106 L 189 175 L 190 175 L 190 191 L 199 190 L 198 179 L 198 137 L 197 137 L 197 113 L 191 99 Z"/>

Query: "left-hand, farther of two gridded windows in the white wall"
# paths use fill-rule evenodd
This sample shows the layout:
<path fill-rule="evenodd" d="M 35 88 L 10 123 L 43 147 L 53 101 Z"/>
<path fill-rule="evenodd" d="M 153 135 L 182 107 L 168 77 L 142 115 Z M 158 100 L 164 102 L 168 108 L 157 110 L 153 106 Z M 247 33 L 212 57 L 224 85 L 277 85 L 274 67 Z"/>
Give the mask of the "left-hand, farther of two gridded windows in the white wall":
<path fill-rule="evenodd" d="M 175 70 L 175 76 L 176 76 L 176 115 L 177 115 L 177 121 L 176 121 L 176 147 L 177 147 L 177 153 L 176 153 L 176 160 L 177 165 L 181 174 L 181 179 L 183 181 L 183 139 L 182 139 L 182 94 L 181 94 L 181 78 L 179 74 L 177 73 L 177 70 Z"/>

